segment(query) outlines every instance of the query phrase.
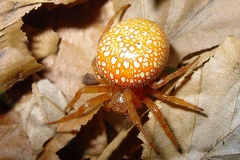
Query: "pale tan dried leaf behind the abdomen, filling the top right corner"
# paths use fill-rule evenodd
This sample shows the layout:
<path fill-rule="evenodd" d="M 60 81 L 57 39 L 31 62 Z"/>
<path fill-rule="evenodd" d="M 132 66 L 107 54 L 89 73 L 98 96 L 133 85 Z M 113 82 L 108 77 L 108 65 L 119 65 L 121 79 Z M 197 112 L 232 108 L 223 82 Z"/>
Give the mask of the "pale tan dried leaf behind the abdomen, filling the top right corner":
<path fill-rule="evenodd" d="M 228 35 L 240 37 L 238 0 L 114 0 L 114 7 L 127 3 L 132 6 L 123 19 L 147 18 L 164 29 L 171 44 L 171 67 L 190 53 L 221 44 Z"/>

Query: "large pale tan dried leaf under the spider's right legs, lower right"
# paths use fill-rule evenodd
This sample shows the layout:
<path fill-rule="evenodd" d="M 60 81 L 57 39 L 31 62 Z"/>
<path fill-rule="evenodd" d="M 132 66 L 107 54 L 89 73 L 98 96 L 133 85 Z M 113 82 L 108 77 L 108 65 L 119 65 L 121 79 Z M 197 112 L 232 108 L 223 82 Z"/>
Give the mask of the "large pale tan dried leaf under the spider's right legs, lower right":
<path fill-rule="evenodd" d="M 228 136 L 234 137 L 236 132 L 239 132 L 240 41 L 228 37 L 211 52 L 214 57 L 194 72 L 190 79 L 185 80 L 186 82 L 179 82 L 174 93 L 176 97 L 204 108 L 207 117 L 158 102 L 183 153 L 176 151 L 150 113 L 150 120 L 144 127 L 154 139 L 160 155 L 157 155 L 140 135 L 144 141 L 143 159 L 207 159 L 224 154 L 240 155 L 236 149 L 239 144 L 228 143 L 226 140 L 229 146 L 216 147 L 221 146 L 221 141 L 225 141 Z M 234 138 L 237 141 L 239 136 Z"/>

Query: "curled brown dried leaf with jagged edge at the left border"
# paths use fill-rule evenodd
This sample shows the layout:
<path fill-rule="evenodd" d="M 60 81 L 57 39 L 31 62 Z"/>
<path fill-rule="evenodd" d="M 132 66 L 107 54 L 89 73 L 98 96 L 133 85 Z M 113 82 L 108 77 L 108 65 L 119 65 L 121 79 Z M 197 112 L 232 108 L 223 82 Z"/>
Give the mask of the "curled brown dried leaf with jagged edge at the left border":
<path fill-rule="evenodd" d="M 18 21 L 0 31 L 0 91 L 44 68 L 28 51 L 25 34 L 20 31 L 22 24 Z"/>

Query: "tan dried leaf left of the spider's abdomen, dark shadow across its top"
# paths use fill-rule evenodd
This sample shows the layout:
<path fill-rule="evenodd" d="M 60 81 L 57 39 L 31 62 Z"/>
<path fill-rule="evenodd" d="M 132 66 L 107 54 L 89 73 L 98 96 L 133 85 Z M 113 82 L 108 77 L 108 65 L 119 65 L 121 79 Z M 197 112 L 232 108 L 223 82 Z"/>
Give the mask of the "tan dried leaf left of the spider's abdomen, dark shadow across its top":
<path fill-rule="evenodd" d="M 110 2 L 103 5 L 102 2 L 92 1 L 71 10 L 63 10 L 62 16 L 55 22 L 59 24 L 56 31 L 61 43 L 57 56 L 43 60 L 48 67 L 44 76 L 55 82 L 69 100 L 84 86 L 83 76 L 93 73 L 91 63 L 96 54 L 98 38 L 112 14 Z"/>

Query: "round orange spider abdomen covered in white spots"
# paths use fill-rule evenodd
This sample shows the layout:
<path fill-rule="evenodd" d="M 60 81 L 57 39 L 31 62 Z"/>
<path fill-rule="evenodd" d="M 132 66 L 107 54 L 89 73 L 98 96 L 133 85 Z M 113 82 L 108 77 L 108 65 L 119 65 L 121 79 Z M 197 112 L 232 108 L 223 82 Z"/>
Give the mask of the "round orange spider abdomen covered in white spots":
<path fill-rule="evenodd" d="M 110 28 L 99 41 L 96 65 L 109 83 L 142 87 L 155 80 L 166 65 L 169 44 L 154 22 L 136 18 Z"/>

